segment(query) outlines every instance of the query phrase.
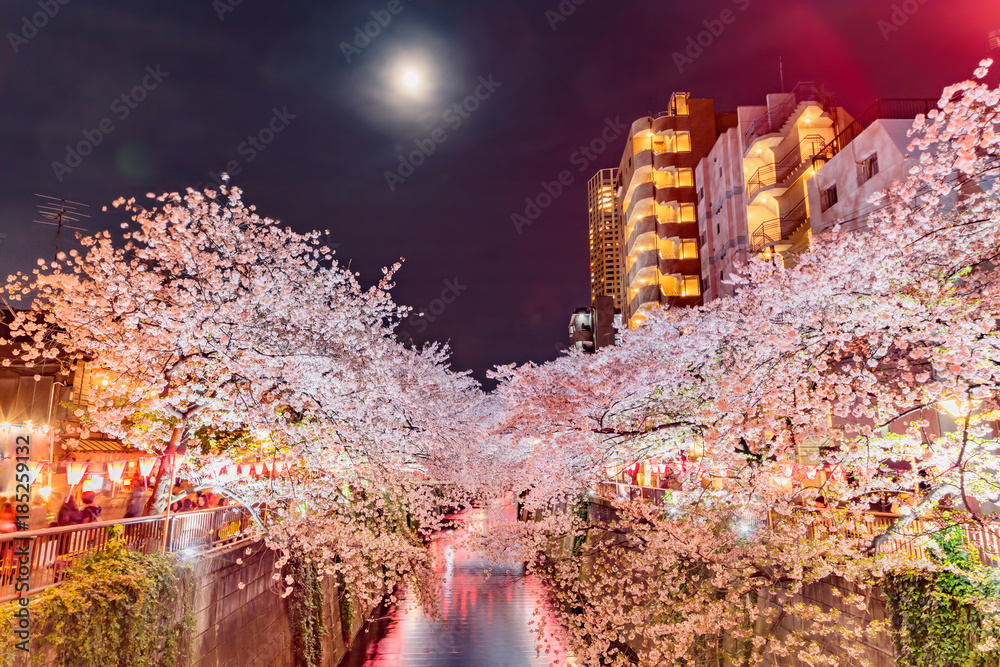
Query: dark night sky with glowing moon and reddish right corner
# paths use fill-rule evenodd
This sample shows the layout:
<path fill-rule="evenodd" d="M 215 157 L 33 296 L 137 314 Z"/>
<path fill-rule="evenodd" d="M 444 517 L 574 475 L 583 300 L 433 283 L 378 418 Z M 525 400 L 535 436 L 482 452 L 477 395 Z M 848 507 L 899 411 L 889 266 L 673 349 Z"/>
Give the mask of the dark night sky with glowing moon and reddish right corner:
<path fill-rule="evenodd" d="M 45 6 L 54 15 L 26 28 Z M 248 202 L 297 230 L 329 229 L 365 284 L 405 258 L 396 298 L 425 319 L 403 328 L 450 341 L 455 367 L 482 378 L 557 356 L 570 312 L 589 304 L 586 182 L 617 166 L 624 136 L 595 159 L 574 153 L 608 119 L 663 110 L 675 90 L 722 111 L 761 104 L 780 90 L 779 56 L 787 88 L 821 82 L 855 114 L 877 97 L 937 97 L 1000 28 L 996 0 L 559 7 L 3 0 L 0 271 L 53 254 L 53 229 L 31 222 L 34 193 L 87 203 L 89 229 L 117 229 L 114 209 L 100 213 L 116 197 L 208 184 L 233 162 Z M 387 25 L 358 48 L 356 29 L 376 18 Z M 674 53 L 709 29 L 679 66 Z M 77 166 L 53 166 L 88 141 Z M 434 150 L 410 174 L 398 156 L 417 142 Z M 512 214 L 566 169 L 573 183 L 519 234 Z M 391 190 L 387 171 L 406 177 Z"/>

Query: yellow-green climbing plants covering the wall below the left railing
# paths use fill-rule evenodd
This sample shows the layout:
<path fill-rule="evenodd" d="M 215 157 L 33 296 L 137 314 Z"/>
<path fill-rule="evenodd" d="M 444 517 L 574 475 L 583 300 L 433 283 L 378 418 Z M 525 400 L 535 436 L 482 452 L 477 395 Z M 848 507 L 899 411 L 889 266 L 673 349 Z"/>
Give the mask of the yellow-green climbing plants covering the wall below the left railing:
<path fill-rule="evenodd" d="M 107 548 L 68 570 L 58 586 L 32 600 L 32 658 L 54 655 L 72 667 L 159 667 L 176 665 L 194 626 L 190 567 L 174 554 L 132 551 L 122 528 L 109 530 Z M 14 604 L 4 605 L 7 624 Z M 13 630 L 3 632 L 3 663 L 22 653 Z"/>

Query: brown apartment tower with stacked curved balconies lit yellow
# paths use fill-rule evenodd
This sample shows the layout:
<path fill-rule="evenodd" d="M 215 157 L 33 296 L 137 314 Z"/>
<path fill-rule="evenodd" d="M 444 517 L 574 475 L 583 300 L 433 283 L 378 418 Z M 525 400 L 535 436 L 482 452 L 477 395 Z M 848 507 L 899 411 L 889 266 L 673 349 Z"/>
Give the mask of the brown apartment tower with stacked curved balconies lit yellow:
<path fill-rule="evenodd" d="M 634 328 L 658 306 L 701 303 L 695 167 L 736 124 L 710 99 L 674 93 L 667 111 L 640 118 L 618 167 L 622 320 Z"/>

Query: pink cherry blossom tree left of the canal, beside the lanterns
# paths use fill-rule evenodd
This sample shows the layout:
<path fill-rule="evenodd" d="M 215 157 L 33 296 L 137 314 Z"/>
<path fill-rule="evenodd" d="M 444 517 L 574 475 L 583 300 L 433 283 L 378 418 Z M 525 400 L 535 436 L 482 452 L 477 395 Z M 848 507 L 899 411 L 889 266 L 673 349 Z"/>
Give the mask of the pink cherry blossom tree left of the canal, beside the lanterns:
<path fill-rule="evenodd" d="M 131 217 L 121 240 L 82 238 L 82 252 L 10 277 L 8 295 L 32 300 L 11 326 L 32 341 L 20 358 L 85 358 L 110 379 L 79 435 L 163 457 L 153 512 L 185 445 L 187 477 L 266 507 L 272 547 L 366 602 L 422 580 L 420 534 L 441 504 L 423 480 L 468 447 L 481 392 L 446 347 L 396 340 L 398 265 L 364 289 L 319 233 L 261 217 L 237 188 L 155 200 L 115 202 Z M 246 474 L 254 464 L 267 472 Z"/>

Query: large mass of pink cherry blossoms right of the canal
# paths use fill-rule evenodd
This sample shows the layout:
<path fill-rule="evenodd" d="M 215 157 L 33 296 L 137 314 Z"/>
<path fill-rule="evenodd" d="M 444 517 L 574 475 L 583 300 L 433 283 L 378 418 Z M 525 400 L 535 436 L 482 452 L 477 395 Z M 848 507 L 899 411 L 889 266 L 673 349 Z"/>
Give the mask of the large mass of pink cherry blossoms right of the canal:
<path fill-rule="evenodd" d="M 754 260 L 733 297 L 655 313 L 620 347 L 496 371 L 491 437 L 512 455 L 492 476 L 532 520 L 484 546 L 547 578 L 585 661 L 865 664 L 886 628 L 846 613 L 862 593 L 943 567 L 934 533 L 982 529 L 1000 497 L 998 104 L 980 81 L 946 89 L 864 230 L 792 268 Z M 649 460 L 670 469 L 658 504 L 568 511 Z M 875 521 L 889 502 L 902 515 Z M 840 610 L 802 597 L 832 575 L 855 591 Z M 775 631 L 786 615 L 800 631 Z"/>

